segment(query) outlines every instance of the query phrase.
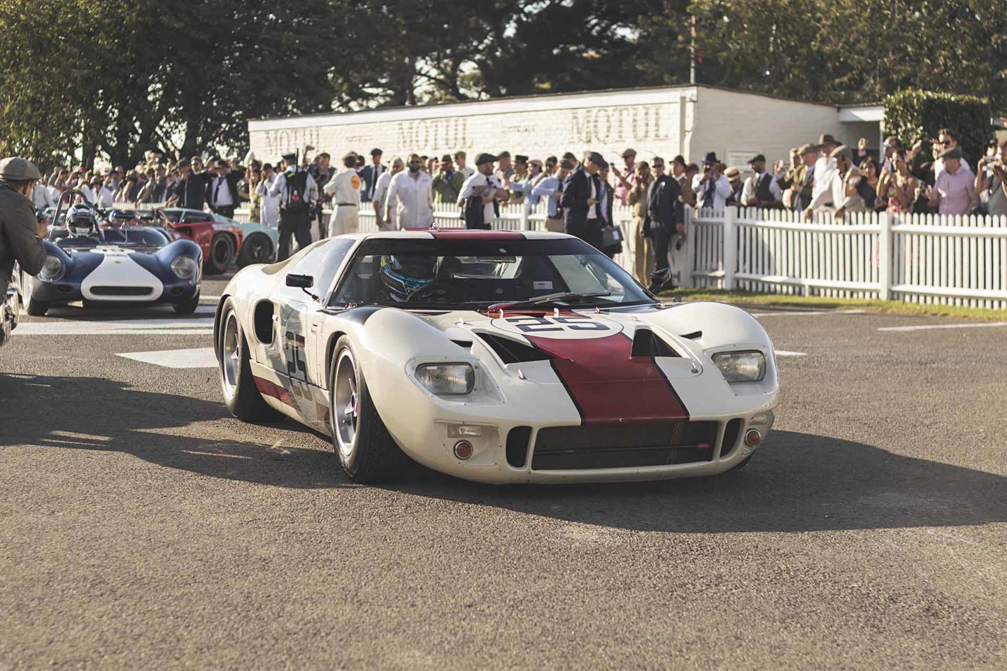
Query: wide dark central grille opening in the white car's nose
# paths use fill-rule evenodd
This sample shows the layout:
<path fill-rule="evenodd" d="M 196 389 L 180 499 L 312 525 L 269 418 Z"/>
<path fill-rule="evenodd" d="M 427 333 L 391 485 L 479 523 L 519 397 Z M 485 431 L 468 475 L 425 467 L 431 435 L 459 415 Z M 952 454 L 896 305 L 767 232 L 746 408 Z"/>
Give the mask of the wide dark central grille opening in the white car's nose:
<path fill-rule="evenodd" d="M 632 468 L 713 461 L 717 422 L 549 427 L 539 430 L 533 471 Z"/>

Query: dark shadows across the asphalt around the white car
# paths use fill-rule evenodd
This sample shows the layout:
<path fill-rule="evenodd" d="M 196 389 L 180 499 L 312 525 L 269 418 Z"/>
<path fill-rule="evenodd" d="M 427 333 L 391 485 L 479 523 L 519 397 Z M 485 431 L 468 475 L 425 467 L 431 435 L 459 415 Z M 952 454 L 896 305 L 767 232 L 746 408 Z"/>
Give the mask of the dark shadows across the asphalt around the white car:
<path fill-rule="evenodd" d="M 11 416 L 12 405 L 16 416 Z M 329 452 L 149 433 L 224 405 L 102 378 L 0 376 L 6 445 L 116 450 L 168 468 L 289 488 L 351 486 Z M 309 433 L 293 422 L 284 429 Z M 82 436 L 83 435 L 83 436 Z M 1007 478 L 825 436 L 773 432 L 751 465 L 714 478 L 496 487 L 415 469 L 390 491 L 643 531 L 822 531 L 1007 521 Z"/>

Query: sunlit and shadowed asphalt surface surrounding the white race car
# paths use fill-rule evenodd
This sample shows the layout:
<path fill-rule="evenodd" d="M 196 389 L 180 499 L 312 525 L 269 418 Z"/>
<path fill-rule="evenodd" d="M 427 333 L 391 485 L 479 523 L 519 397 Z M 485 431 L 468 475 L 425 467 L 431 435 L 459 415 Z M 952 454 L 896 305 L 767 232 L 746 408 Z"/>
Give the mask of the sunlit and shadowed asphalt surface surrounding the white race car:
<path fill-rule="evenodd" d="M 377 488 L 229 416 L 212 368 L 119 356 L 207 316 L 0 350 L 0 671 L 1007 668 L 1007 326 L 760 317 L 804 355 L 728 476 Z"/>

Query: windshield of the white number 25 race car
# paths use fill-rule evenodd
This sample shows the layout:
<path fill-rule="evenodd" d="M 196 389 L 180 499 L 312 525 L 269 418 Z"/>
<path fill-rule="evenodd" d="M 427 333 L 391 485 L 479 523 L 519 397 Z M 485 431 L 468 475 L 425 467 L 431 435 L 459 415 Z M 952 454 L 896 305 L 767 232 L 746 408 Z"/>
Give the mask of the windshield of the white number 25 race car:
<path fill-rule="evenodd" d="M 578 239 L 365 240 L 331 305 L 477 309 L 550 295 L 549 305 L 653 303 L 628 273 Z M 547 303 L 542 303 L 546 305 Z"/>

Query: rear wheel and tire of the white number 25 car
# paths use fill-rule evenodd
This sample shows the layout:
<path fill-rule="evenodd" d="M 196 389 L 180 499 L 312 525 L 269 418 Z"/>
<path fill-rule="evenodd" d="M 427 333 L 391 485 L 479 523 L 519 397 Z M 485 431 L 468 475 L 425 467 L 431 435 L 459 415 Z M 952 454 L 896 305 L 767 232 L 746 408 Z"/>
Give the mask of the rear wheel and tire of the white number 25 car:
<path fill-rule="evenodd" d="M 282 420 L 283 413 L 271 407 L 256 387 L 249 358 L 249 344 L 242 332 L 234 301 L 230 298 L 224 304 L 218 352 L 217 370 L 221 378 L 221 390 L 231 413 L 242 422 L 254 424 Z"/>

